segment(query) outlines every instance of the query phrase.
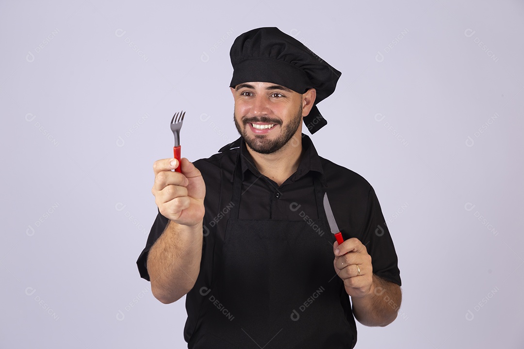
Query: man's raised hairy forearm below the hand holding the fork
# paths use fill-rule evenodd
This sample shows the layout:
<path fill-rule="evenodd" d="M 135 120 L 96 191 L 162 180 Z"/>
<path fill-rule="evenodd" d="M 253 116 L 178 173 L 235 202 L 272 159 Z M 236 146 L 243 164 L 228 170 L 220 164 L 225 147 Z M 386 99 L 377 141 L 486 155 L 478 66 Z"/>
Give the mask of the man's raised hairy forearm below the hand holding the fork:
<path fill-rule="evenodd" d="M 188 227 L 169 221 L 147 258 L 153 295 L 167 304 L 187 294 L 199 275 L 201 256 L 202 223 Z"/>

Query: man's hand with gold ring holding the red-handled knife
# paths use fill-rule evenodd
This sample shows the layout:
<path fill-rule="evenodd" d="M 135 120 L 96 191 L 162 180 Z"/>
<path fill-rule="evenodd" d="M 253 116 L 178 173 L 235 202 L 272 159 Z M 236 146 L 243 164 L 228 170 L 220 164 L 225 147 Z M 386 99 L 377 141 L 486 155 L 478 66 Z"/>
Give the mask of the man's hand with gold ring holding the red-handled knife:
<path fill-rule="evenodd" d="M 348 295 L 361 298 L 368 295 L 373 284 L 373 265 L 366 246 L 357 238 L 333 244 L 335 272 L 344 282 Z"/>

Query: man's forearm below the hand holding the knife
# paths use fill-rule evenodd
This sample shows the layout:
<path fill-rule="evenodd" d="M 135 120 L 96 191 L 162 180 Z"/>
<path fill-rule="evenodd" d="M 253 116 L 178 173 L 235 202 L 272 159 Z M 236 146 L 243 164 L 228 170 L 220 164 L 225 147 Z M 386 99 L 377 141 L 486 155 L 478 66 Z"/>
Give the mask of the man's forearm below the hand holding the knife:
<path fill-rule="evenodd" d="M 362 298 L 352 297 L 353 314 L 366 326 L 386 326 L 397 318 L 402 292 L 397 284 L 373 275 L 369 293 Z"/>

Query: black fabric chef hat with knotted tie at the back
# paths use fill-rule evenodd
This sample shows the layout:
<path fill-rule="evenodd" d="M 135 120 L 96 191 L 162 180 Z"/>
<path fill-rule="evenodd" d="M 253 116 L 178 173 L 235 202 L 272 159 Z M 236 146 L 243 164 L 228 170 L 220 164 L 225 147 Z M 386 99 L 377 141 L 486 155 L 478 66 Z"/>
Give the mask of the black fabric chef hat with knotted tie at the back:
<path fill-rule="evenodd" d="M 246 82 L 270 82 L 300 94 L 314 88 L 315 105 L 304 117 L 304 123 L 311 133 L 328 123 L 316 104 L 335 91 L 342 73 L 300 41 L 275 27 L 253 29 L 235 39 L 230 56 L 231 87 Z"/>

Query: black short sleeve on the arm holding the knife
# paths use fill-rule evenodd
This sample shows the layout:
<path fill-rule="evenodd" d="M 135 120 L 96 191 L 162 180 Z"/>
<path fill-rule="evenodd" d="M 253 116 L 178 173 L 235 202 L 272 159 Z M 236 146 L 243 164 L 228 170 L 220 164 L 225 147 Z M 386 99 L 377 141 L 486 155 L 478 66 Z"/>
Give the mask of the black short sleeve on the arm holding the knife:
<path fill-rule="evenodd" d="M 362 243 L 372 258 L 373 274 L 401 286 L 397 253 L 373 188 L 369 189 L 366 211 Z"/>

